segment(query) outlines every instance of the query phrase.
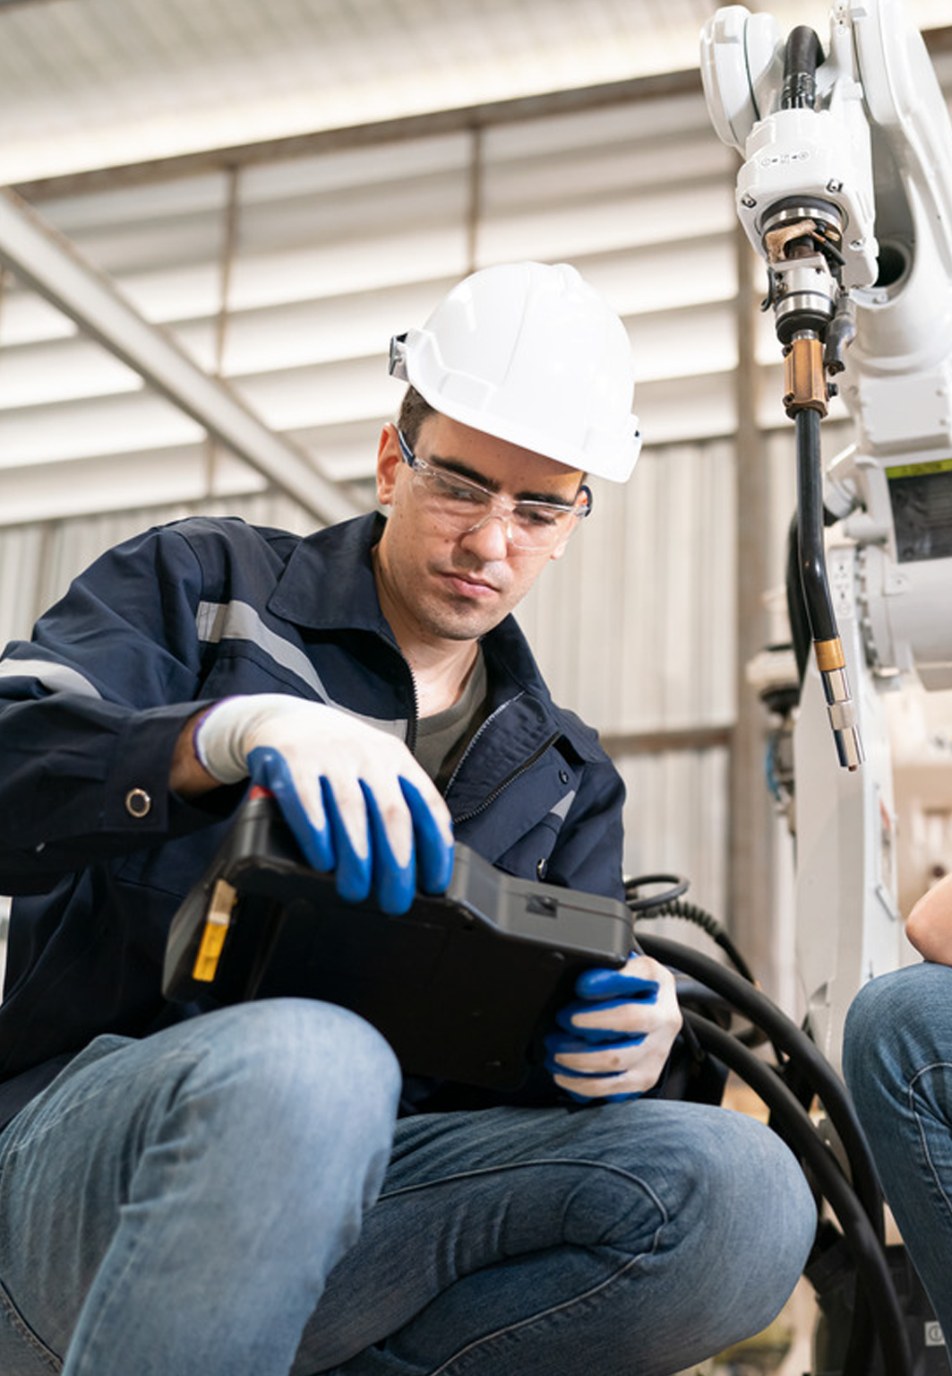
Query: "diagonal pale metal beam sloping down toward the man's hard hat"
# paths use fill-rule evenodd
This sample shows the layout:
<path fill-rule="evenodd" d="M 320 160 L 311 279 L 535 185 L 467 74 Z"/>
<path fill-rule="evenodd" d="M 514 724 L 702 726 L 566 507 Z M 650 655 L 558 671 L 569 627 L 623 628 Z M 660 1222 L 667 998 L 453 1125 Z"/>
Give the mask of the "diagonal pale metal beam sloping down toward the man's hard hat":
<path fill-rule="evenodd" d="M 170 333 L 143 319 L 114 282 L 7 187 L 0 189 L 0 263 L 319 522 L 360 515 L 363 508 L 295 444 L 205 373 Z"/>

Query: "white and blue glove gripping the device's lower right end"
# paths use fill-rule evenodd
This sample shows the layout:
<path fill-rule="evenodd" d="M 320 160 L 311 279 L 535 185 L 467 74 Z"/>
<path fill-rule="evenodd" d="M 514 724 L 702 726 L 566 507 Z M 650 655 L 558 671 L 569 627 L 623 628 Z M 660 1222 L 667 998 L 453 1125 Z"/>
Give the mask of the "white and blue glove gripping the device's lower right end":
<path fill-rule="evenodd" d="M 681 1028 L 675 976 L 646 955 L 620 970 L 584 970 L 556 1014 L 545 1066 L 573 1099 L 637 1098 L 657 1084 Z"/>

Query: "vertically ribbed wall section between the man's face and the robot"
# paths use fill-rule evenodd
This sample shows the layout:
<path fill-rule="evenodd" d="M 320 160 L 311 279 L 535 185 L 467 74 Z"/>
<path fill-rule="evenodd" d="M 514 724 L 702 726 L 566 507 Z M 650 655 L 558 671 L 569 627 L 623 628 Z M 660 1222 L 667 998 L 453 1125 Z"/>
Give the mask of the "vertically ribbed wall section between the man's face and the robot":
<path fill-rule="evenodd" d="M 727 747 L 643 740 L 703 739 L 734 720 L 731 446 L 648 449 L 624 493 L 606 486 L 521 619 L 562 699 L 610 738 L 629 791 L 628 872 L 685 872 L 723 914 Z"/>

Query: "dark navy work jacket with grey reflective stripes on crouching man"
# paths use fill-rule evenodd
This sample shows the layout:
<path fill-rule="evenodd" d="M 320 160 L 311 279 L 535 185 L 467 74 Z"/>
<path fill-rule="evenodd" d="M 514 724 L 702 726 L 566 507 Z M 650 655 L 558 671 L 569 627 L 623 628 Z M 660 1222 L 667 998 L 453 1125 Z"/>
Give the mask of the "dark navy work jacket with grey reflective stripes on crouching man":
<path fill-rule="evenodd" d="M 413 680 L 381 612 L 365 516 L 302 539 L 194 519 L 99 559 L 0 660 L 0 1126 L 102 1032 L 181 1017 L 161 993 L 179 903 L 243 787 L 169 791 L 201 703 L 287 692 L 413 747 Z M 455 832 L 501 870 L 622 896 L 621 779 L 556 707 L 507 618 L 482 641 L 489 716 L 446 787 Z"/>

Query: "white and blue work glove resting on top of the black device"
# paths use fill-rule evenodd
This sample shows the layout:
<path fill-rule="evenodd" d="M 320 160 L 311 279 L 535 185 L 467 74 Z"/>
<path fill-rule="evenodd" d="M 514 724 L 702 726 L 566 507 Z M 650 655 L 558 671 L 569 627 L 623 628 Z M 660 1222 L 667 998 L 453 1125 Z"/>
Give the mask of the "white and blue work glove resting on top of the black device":
<path fill-rule="evenodd" d="M 195 754 L 218 783 L 268 788 L 315 870 L 360 903 L 405 912 L 416 886 L 442 893 L 453 871 L 449 812 L 396 736 L 337 707 L 284 694 L 225 698 L 201 718 Z"/>

